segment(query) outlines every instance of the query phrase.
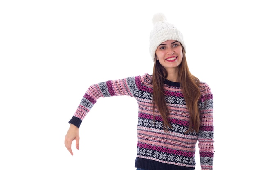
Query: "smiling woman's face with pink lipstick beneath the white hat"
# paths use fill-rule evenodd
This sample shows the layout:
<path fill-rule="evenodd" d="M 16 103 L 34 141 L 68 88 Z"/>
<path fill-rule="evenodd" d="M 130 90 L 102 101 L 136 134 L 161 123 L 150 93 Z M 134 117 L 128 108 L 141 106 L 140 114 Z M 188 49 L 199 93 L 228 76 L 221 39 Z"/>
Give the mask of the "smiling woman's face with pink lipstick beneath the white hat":
<path fill-rule="evenodd" d="M 157 47 L 155 54 L 167 71 L 175 70 L 182 62 L 182 45 L 176 40 L 167 40 Z"/>

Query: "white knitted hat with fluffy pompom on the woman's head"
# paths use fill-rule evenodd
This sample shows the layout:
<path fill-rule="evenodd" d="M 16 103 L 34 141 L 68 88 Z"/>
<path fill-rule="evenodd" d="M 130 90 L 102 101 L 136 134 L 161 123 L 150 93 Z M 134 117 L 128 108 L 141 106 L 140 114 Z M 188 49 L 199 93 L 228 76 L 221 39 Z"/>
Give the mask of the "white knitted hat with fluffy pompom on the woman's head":
<path fill-rule="evenodd" d="M 150 33 L 149 53 L 155 61 L 155 51 L 157 47 L 167 40 L 177 40 L 180 42 L 186 53 L 186 46 L 184 44 L 182 33 L 177 30 L 176 26 L 166 21 L 164 14 L 157 13 L 153 16 L 152 22 L 154 24 L 153 30 Z"/>

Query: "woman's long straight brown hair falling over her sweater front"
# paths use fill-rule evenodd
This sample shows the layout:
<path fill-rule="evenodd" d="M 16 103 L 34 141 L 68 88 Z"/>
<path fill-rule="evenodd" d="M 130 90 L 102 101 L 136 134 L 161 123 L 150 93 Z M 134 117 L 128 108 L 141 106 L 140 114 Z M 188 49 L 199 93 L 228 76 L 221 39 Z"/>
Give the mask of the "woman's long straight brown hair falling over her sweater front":
<path fill-rule="evenodd" d="M 199 79 L 192 75 L 189 71 L 189 67 L 186 61 L 186 55 L 184 48 L 182 46 L 183 59 L 179 66 L 179 82 L 182 88 L 182 94 L 184 95 L 186 106 L 190 113 L 190 123 L 187 132 L 199 131 L 200 119 L 199 119 L 199 109 L 198 101 L 200 99 L 200 89 L 199 89 Z M 164 124 L 164 130 L 172 128 L 169 120 L 169 110 L 164 98 L 164 88 L 163 83 L 166 79 L 168 73 L 166 69 L 156 60 L 153 68 L 153 110 L 155 110 L 155 105 L 161 114 Z"/>

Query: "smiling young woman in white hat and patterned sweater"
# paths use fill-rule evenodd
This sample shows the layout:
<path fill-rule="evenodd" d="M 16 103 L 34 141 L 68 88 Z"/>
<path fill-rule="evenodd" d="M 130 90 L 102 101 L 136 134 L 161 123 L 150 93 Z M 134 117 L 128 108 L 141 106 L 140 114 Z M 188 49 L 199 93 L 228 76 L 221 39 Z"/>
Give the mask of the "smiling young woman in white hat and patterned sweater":
<path fill-rule="evenodd" d="M 163 14 L 153 17 L 153 74 L 94 84 L 88 88 L 65 136 L 79 147 L 79 126 L 100 97 L 127 95 L 138 103 L 137 170 L 194 170 L 197 141 L 202 170 L 213 168 L 213 95 L 186 62 L 182 33 Z"/>

